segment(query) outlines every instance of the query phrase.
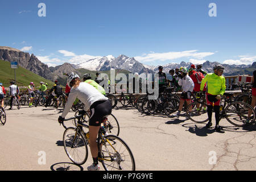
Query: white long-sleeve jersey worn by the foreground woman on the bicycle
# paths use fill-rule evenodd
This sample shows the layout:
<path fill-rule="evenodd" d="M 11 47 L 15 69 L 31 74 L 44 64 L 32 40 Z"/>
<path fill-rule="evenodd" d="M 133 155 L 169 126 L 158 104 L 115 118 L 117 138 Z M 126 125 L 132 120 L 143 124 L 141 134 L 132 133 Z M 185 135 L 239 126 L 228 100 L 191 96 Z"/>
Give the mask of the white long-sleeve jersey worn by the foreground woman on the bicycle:
<path fill-rule="evenodd" d="M 96 88 L 86 82 L 80 82 L 79 86 L 71 89 L 68 95 L 68 102 L 65 105 L 61 117 L 65 118 L 71 109 L 73 102 L 78 98 L 82 103 L 84 103 L 84 110 L 90 109 L 90 106 L 96 101 L 106 101 L 108 100 L 103 94 L 98 92 Z"/>

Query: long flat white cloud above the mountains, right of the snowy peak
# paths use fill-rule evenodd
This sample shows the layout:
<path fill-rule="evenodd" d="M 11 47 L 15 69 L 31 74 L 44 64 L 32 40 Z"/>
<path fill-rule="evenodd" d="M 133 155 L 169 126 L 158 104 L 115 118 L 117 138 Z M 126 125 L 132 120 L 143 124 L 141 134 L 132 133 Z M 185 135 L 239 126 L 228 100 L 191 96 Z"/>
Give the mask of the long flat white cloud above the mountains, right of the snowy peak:
<path fill-rule="evenodd" d="M 206 56 L 213 55 L 214 52 L 197 52 L 198 50 L 181 51 L 181 52 L 163 52 L 163 53 L 148 53 L 147 55 L 135 56 L 134 58 L 141 62 L 166 61 L 180 59 L 181 57 L 194 57 L 203 59 Z"/>

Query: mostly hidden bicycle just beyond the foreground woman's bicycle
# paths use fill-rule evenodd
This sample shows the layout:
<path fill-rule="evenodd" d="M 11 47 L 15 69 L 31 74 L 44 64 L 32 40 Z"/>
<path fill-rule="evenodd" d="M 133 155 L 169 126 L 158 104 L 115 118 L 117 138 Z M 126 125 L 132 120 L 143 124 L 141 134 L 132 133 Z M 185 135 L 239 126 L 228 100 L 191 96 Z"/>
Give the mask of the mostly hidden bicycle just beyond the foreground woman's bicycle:
<path fill-rule="evenodd" d="M 80 112 L 82 110 L 77 110 L 75 113 L 75 117 L 77 117 L 78 115 L 80 115 Z M 82 123 L 88 123 L 89 122 L 89 118 L 90 118 L 90 114 L 86 111 L 83 111 L 84 114 L 82 114 L 81 116 L 81 122 Z M 76 126 L 76 122 L 75 119 L 71 122 L 71 121 L 64 121 L 62 122 L 62 125 L 65 129 L 67 129 L 68 127 L 74 127 Z M 108 118 L 106 118 L 105 121 L 105 129 L 109 134 L 112 135 L 119 135 L 120 133 L 120 127 L 119 127 L 119 123 L 117 121 L 117 118 L 115 118 L 115 116 L 113 114 L 110 114 L 108 116 Z"/>

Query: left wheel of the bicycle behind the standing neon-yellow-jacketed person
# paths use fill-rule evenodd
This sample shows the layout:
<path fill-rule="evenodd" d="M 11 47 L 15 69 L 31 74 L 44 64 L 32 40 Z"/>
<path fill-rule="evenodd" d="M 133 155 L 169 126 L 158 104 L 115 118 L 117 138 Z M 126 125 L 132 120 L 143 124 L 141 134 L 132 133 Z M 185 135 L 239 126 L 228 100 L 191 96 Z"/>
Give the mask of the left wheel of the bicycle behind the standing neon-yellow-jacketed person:
<path fill-rule="evenodd" d="M 200 105 L 199 110 L 197 110 L 197 104 Z M 192 102 L 191 104 L 188 105 L 187 110 L 186 110 L 186 114 L 187 117 L 196 123 L 204 123 L 209 121 L 208 118 L 208 114 L 207 111 L 203 110 L 203 106 L 205 105 L 205 103 L 201 103 L 201 102 Z M 192 107 L 192 111 L 191 111 L 191 115 L 189 114 L 189 107 Z"/>

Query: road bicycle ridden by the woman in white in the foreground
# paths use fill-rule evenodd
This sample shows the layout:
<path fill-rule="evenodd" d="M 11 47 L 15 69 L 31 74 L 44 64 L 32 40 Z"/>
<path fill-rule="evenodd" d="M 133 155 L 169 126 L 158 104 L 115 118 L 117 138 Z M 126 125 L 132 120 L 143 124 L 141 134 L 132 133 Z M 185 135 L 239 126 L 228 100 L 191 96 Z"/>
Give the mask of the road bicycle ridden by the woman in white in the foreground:
<path fill-rule="evenodd" d="M 89 138 L 84 128 L 88 129 L 89 126 L 81 122 L 81 115 L 64 119 L 68 120 L 75 120 L 76 127 L 68 127 L 64 131 L 64 149 L 73 163 L 82 165 L 88 158 Z M 105 120 L 98 132 L 98 161 L 106 171 L 135 171 L 135 160 L 129 146 L 115 135 L 106 135 Z"/>

